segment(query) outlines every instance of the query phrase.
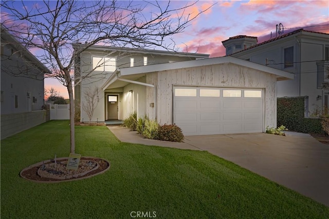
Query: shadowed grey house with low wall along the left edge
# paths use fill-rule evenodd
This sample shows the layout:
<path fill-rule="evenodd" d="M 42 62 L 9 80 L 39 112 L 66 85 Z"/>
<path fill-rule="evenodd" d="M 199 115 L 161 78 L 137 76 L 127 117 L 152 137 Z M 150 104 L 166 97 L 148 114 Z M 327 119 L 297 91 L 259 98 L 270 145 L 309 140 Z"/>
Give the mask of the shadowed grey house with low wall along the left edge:
<path fill-rule="evenodd" d="M 44 104 L 44 72 L 49 70 L 1 26 L 2 139 L 45 122 L 44 112 L 36 112 Z"/>

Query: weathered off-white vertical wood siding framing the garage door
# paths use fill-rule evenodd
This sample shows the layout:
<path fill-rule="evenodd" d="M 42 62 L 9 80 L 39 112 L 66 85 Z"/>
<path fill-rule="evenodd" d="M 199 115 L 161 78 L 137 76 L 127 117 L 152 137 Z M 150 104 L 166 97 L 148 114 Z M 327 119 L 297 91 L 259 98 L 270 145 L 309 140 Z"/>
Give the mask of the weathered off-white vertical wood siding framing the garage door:
<path fill-rule="evenodd" d="M 147 75 L 147 83 L 156 86 L 156 118 L 160 124 L 172 124 L 173 85 L 205 87 L 262 88 L 265 93 L 264 127 L 277 126 L 277 98 L 274 75 L 235 64 L 218 64 L 196 68 L 154 72 Z M 147 106 L 154 102 L 154 91 L 147 89 Z M 148 108 L 148 114 L 154 112 Z M 264 130 L 265 131 L 265 130 Z"/>

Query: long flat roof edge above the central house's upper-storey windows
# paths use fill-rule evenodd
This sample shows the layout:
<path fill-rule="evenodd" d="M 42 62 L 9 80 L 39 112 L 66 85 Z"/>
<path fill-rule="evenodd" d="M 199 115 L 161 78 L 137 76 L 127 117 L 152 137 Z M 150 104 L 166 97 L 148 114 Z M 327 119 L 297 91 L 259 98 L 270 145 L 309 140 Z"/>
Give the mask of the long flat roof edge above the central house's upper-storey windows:
<path fill-rule="evenodd" d="M 83 47 L 84 44 L 72 44 L 73 48 Z M 190 53 L 190 52 L 176 52 L 176 51 L 165 51 L 165 50 L 154 50 L 154 49 L 135 49 L 126 47 L 114 47 L 114 46 L 100 46 L 93 45 L 87 50 L 101 50 L 101 51 L 115 51 L 115 52 L 126 52 L 126 53 L 140 53 L 140 54 L 154 54 L 154 55 L 171 55 L 171 56 L 183 56 L 193 58 L 208 58 L 209 54 L 203 53 Z"/>

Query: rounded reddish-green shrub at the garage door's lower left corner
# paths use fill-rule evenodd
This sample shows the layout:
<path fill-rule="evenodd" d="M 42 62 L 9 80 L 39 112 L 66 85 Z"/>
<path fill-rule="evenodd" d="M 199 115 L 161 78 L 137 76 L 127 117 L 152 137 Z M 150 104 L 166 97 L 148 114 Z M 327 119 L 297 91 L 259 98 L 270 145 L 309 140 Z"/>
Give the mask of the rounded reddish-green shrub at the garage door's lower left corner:
<path fill-rule="evenodd" d="M 170 141 L 170 142 L 182 142 L 184 140 L 184 134 L 181 129 L 174 125 L 163 125 L 158 130 L 158 140 Z"/>

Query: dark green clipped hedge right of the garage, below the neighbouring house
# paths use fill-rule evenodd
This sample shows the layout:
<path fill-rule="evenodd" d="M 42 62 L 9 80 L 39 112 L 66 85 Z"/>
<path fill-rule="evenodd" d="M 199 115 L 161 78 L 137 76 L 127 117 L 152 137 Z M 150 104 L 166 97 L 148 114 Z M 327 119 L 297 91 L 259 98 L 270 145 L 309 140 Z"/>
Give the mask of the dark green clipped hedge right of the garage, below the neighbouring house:
<path fill-rule="evenodd" d="M 277 125 L 284 125 L 290 131 L 326 135 L 321 118 L 304 117 L 304 96 L 278 97 Z"/>

